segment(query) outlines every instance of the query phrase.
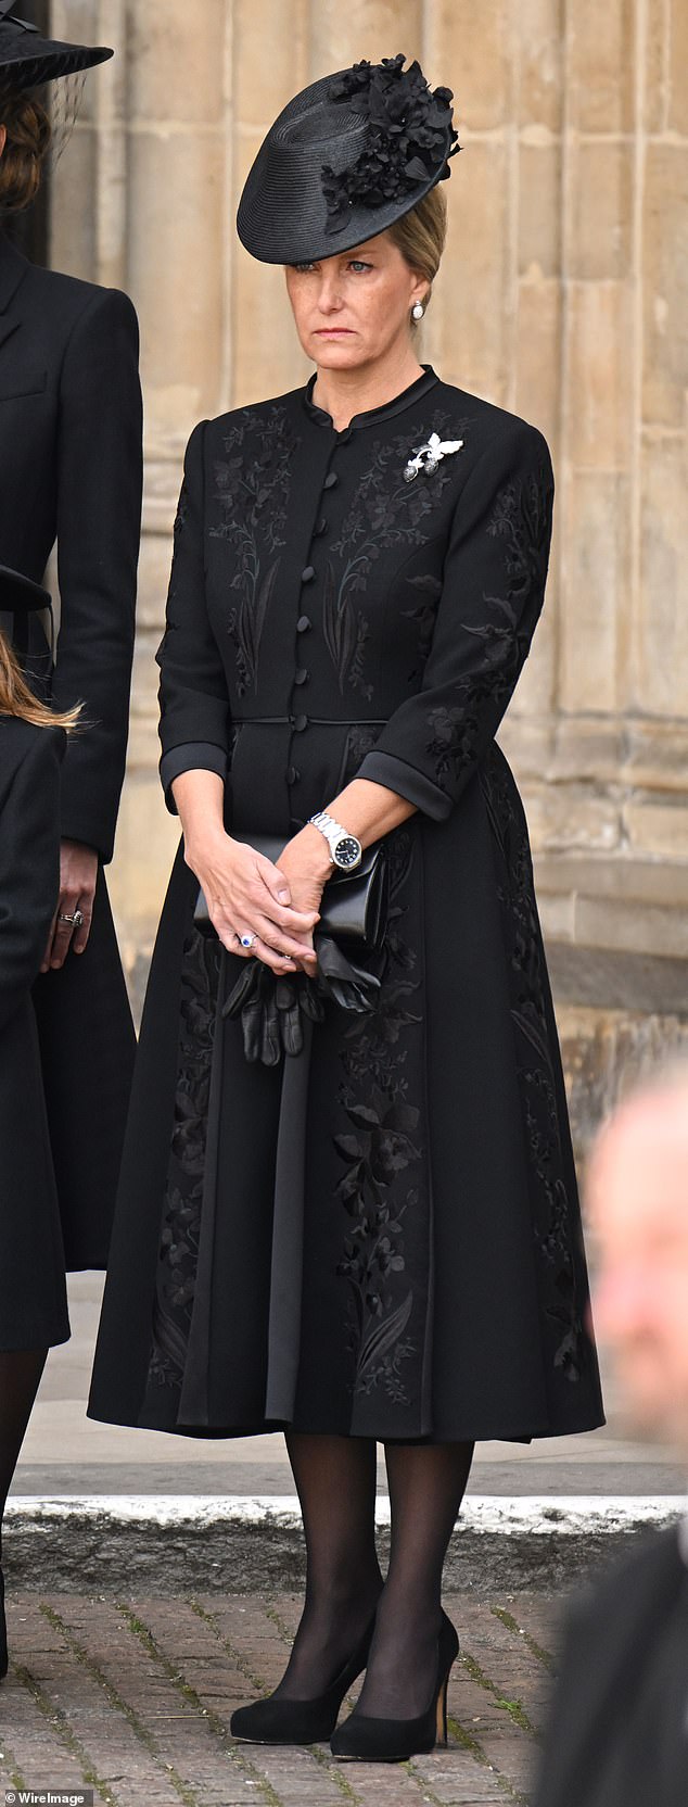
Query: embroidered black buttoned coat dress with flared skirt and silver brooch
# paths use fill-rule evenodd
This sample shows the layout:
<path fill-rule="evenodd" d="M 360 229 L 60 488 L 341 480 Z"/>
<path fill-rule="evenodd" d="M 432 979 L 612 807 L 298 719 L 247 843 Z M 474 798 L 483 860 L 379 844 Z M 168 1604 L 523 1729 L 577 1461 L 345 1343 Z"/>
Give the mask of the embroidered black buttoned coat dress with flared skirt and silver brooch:
<path fill-rule="evenodd" d="M 381 994 L 325 1005 L 303 1055 L 247 1063 L 222 1016 L 244 965 L 193 931 L 179 855 L 88 1409 L 202 1435 L 587 1429 L 565 1093 L 493 739 L 544 598 L 547 446 L 432 369 L 345 432 L 311 389 L 190 441 L 163 781 L 228 772 L 229 828 L 285 840 L 356 775 L 417 804 L 386 837 Z M 460 448 L 404 481 L 435 432 Z"/>

